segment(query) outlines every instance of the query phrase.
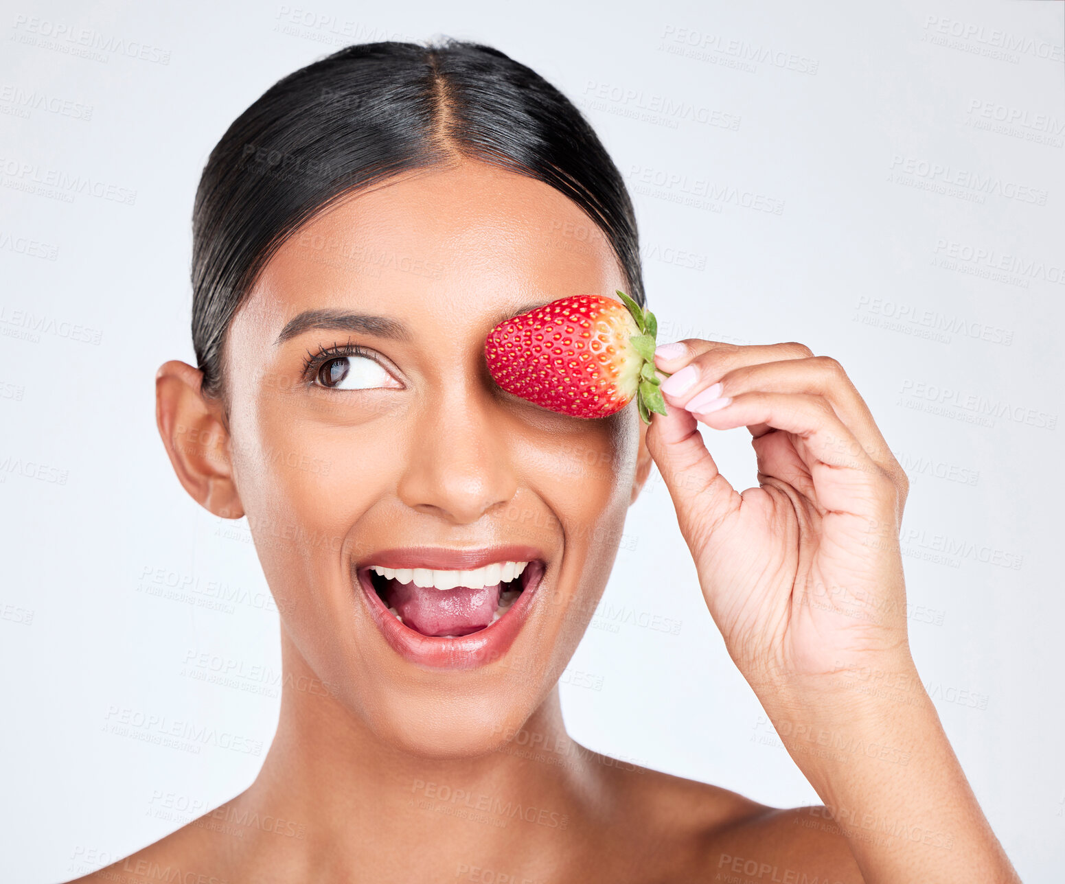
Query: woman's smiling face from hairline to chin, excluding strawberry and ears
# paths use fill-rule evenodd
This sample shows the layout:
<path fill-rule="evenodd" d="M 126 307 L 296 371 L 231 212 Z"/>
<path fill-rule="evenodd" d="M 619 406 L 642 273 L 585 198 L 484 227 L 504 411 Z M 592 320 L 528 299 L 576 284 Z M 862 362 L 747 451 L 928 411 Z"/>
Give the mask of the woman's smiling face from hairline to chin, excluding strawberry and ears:
<path fill-rule="evenodd" d="M 484 343 L 624 288 L 575 203 L 466 162 L 311 220 L 235 316 L 240 506 L 291 644 L 381 739 L 489 751 L 576 648 L 650 464 L 641 425 L 635 407 L 588 421 L 504 393 Z"/>

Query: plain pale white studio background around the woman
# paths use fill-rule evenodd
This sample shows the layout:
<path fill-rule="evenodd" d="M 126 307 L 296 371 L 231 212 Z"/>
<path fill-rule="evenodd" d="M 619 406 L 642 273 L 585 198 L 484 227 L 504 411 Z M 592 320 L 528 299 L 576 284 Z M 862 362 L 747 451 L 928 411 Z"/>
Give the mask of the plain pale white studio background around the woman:
<path fill-rule="evenodd" d="M 634 189 L 660 340 L 798 340 L 848 369 L 913 479 L 922 677 L 1025 880 L 1060 880 L 1062 3 L 4 6 L 2 880 L 65 881 L 253 780 L 277 700 L 184 664 L 277 670 L 277 613 L 246 527 L 185 495 L 153 420 L 155 367 L 192 361 L 193 194 L 281 76 L 439 34 L 503 49 L 587 111 Z M 89 56 L 59 28 L 88 29 Z M 135 198 L 56 198 L 49 176 Z M 746 431 L 710 444 L 753 482 Z M 571 666 L 600 689 L 563 688 L 572 734 L 758 801 L 817 801 L 724 653 L 660 481 L 626 538 Z M 243 592 L 211 609 L 209 580 Z M 170 591 L 189 582 L 192 602 Z M 677 634 L 641 627 L 650 615 Z M 112 733 L 121 710 L 263 752 Z"/>

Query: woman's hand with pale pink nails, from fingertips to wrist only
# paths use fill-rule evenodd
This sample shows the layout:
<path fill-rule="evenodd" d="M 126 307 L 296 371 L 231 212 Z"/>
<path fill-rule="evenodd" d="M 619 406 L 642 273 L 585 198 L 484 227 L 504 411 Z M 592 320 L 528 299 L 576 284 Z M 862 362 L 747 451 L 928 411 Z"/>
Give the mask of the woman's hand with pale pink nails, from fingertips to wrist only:
<path fill-rule="evenodd" d="M 655 361 L 672 373 L 669 414 L 654 416 L 648 447 L 755 690 L 912 666 L 898 542 L 908 482 L 839 363 L 802 344 L 700 340 L 659 347 Z M 757 488 L 737 493 L 718 472 L 697 419 L 751 431 Z"/>

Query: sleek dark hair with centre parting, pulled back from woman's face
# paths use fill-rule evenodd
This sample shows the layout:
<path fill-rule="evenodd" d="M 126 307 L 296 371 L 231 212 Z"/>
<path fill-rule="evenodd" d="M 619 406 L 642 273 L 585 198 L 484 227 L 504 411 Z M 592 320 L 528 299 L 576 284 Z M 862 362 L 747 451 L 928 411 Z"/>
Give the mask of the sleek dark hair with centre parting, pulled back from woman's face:
<path fill-rule="evenodd" d="M 226 330 L 300 225 L 353 191 L 471 158 L 566 194 L 606 234 L 643 304 L 633 204 L 591 126 L 558 89 L 489 46 L 349 46 L 267 89 L 211 151 L 193 211 L 193 344 L 222 392 Z"/>

